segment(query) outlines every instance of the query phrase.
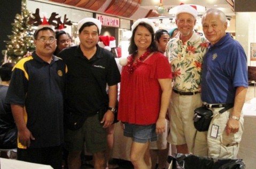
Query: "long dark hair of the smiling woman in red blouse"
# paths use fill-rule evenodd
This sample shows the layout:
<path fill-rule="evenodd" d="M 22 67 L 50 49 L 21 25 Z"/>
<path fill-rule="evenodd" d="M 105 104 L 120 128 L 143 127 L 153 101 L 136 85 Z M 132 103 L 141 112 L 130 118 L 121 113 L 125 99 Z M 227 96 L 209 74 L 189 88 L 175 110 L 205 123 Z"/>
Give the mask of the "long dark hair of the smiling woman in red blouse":
<path fill-rule="evenodd" d="M 150 44 L 150 46 L 149 46 L 148 49 L 150 49 L 152 52 L 158 51 L 156 41 L 154 41 L 154 30 L 153 30 L 153 28 L 152 28 L 148 23 L 145 23 L 145 22 L 140 22 L 140 23 L 138 24 L 138 26 L 143 26 L 143 27 L 145 27 L 146 29 L 149 30 L 149 32 L 150 32 L 151 35 L 152 35 L 151 44 Z M 129 47 L 128 47 L 128 52 L 129 52 L 129 54 L 135 53 L 135 52 L 137 51 L 137 49 L 138 49 L 138 47 L 135 45 L 135 41 L 134 41 L 135 32 L 136 32 L 138 26 L 133 30 L 133 35 L 132 35 L 131 38 L 129 39 L 129 40 L 130 40 L 130 45 L 129 45 Z"/>

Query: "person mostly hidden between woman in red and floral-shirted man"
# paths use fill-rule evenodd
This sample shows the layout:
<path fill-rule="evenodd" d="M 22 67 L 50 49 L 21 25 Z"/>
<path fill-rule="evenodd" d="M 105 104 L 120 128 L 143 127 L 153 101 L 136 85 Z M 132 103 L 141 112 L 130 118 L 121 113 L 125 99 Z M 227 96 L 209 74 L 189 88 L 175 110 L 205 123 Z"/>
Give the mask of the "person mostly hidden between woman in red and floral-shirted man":
<path fill-rule="evenodd" d="M 154 40 L 156 40 L 158 50 L 162 54 L 165 53 L 166 45 L 169 39 L 170 36 L 167 30 L 159 29 L 156 31 Z M 152 169 L 166 168 L 166 159 L 169 151 L 169 143 L 167 142 L 168 132 L 169 121 L 166 120 L 165 132 L 158 135 L 157 141 L 150 142 L 150 156 L 152 162 Z"/>

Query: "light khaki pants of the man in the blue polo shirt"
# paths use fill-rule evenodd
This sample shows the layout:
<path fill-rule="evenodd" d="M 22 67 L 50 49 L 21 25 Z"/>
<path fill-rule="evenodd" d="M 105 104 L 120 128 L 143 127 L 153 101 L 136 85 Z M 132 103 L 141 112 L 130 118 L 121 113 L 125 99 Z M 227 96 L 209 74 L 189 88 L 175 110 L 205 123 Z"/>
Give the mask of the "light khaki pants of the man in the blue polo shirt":
<path fill-rule="evenodd" d="M 220 109 L 221 108 L 212 108 L 214 116 L 207 134 L 208 156 L 214 158 L 237 158 L 239 142 L 241 141 L 244 131 L 243 112 L 241 112 L 238 132 L 235 134 L 231 133 L 227 136 L 225 128 L 229 114 L 232 112 L 233 108 L 228 109 L 228 111 L 222 114 L 219 113 Z M 213 124 L 214 126 L 218 126 L 218 135 L 216 138 L 211 136 Z"/>

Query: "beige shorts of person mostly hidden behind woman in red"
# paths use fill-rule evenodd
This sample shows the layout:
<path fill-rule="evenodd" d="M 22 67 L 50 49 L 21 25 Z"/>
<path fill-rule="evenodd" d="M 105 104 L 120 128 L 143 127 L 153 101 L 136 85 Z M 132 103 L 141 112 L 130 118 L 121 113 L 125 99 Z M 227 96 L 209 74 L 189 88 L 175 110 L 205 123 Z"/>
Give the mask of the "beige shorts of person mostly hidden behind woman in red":
<path fill-rule="evenodd" d="M 150 142 L 149 148 L 151 150 L 164 150 L 167 148 L 167 136 L 169 133 L 169 121 L 165 120 L 165 124 L 166 124 L 166 128 L 165 128 L 165 132 L 162 134 L 158 134 L 158 140 L 157 141 L 153 141 Z"/>

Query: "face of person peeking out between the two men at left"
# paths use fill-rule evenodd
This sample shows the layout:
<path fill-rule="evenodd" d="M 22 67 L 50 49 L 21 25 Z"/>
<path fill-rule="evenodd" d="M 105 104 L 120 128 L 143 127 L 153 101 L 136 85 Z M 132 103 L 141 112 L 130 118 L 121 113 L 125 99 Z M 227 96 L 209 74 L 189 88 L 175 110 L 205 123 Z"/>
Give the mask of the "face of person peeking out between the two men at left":
<path fill-rule="evenodd" d="M 56 39 L 57 39 L 57 48 L 55 50 L 54 55 L 57 55 L 61 50 L 65 49 L 66 47 L 69 47 L 69 42 L 70 42 L 68 34 L 63 30 L 56 32 Z"/>

